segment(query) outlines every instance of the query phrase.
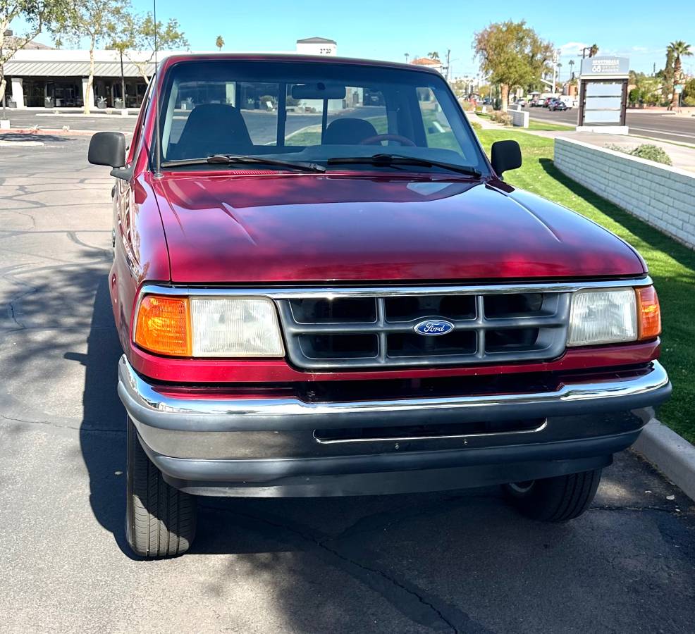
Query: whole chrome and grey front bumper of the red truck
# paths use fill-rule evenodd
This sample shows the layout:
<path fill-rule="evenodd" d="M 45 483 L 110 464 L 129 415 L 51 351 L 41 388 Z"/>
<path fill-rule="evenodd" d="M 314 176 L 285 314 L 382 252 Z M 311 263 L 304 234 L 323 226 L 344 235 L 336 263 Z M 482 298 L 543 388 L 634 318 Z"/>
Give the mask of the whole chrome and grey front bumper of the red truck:
<path fill-rule="evenodd" d="M 494 472 L 496 466 L 510 463 L 536 465 L 529 473 L 539 473 L 552 461 L 557 462 L 556 472 L 571 472 L 586 464 L 571 467 L 567 461 L 605 459 L 631 445 L 653 414 L 651 406 L 667 399 L 671 390 L 668 375 L 656 361 L 634 377 L 567 383 L 554 392 L 361 402 L 173 397 L 137 375 L 125 357 L 119 362 L 118 378 L 118 394 L 144 449 L 182 488 L 195 482 L 238 487 L 299 478 L 309 483 L 316 477 L 439 468 Z M 327 445 L 314 437 L 316 428 L 536 418 L 545 423 L 531 431 L 465 437 Z"/>

